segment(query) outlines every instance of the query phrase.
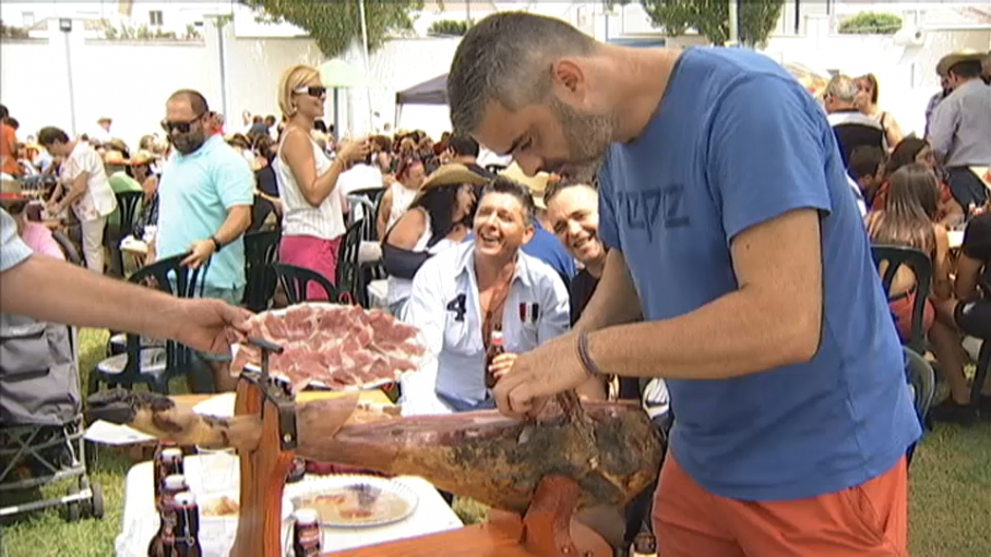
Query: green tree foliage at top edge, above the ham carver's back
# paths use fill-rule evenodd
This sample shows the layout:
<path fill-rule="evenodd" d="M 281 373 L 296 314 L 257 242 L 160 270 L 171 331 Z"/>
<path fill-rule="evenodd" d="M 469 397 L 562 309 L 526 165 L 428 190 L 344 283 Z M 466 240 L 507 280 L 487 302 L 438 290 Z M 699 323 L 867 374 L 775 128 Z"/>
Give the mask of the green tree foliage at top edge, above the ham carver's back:
<path fill-rule="evenodd" d="M 606 0 L 606 7 L 625 5 L 630 0 Z M 729 40 L 729 1 L 727 0 L 641 0 L 655 27 L 671 36 L 695 29 L 714 45 Z M 740 43 L 760 46 L 767 43 L 781 17 L 785 0 L 744 0 L 737 16 Z"/>

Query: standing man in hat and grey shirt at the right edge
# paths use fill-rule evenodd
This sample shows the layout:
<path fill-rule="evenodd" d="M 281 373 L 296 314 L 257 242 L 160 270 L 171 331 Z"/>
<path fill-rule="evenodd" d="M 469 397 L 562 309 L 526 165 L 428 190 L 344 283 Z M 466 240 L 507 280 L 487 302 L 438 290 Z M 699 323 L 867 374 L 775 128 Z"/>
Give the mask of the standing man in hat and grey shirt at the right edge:
<path fill-rule="evenodd" d="M 987 52 L 965 50 L 945 56 L 936 72 L 953 92 L 932 113 L 929 143 L 946 169 L 950 190 L 962 207 L 982 206 L 988 190 L 970 167 L 991 164 L 991 88 L 981 80 Z"/>

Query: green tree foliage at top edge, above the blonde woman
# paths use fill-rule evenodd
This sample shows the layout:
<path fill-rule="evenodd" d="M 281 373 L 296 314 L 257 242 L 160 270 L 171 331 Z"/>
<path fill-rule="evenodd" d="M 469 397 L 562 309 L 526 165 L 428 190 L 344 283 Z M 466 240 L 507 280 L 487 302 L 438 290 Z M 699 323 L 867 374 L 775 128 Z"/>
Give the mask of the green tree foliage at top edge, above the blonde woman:
<path fill-rule="evenodd" d="M 264 12 L 266 21 L 287 22 L 305 29 L 327 58 L 361 41 L 358 0 L 240 0 Z M 381 47 L 390 36 L 413 29 L 410 13 L 422 10 L 423 0 L 365 0 L 368 48 Z"/>

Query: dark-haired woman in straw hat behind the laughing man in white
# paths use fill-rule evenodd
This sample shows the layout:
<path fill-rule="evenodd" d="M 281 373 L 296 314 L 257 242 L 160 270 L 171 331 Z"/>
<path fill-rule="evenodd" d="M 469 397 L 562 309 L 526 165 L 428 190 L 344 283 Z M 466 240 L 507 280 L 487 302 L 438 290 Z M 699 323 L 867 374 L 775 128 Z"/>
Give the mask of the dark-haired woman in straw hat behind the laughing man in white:
<path fill-rule="evenodd" d="M 409 208 L 382 234 L 392 315 L 403 317 L 413 278 L 423 263 L 467 238 L 475 189 L 488 182 L 462 165 L 444 165 L 423 182 Z"/>

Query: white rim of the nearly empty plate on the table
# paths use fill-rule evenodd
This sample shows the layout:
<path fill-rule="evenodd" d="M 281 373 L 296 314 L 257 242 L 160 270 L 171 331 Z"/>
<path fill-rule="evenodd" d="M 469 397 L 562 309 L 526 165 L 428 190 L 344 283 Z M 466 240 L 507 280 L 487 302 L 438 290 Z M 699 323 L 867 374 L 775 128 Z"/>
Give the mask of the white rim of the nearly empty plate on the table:
<path fill-rule="evenodd" d="M 405 504 L 405 508 L 402 509 L 402 511 L 392 512 L 387 516 L 371 517 L 368 519 L 334 520 L 321 516 L 321 524 L 331 528 L 371 528 L 394 524 L 409 518 L 414 511 L 416 511 L 417 504 L 419 504 L 419 497 L 416 492 L 402 481 L 360 474 L 338 474 L 315 477 L 312 480 L 307 479 L 297 484 L 292 484 L 291 486 L 286 486 L 286 495 L 291 499 L 295 508 L 302 508 L 306 505 L 307 497 L 346 489 L 347 487 L 355 485 L 366 485 L 374 489 L 380 489 L 381 494 L 379 495 L 378 501 L 382 501 L 385 497 L 395 497 Z"/>

